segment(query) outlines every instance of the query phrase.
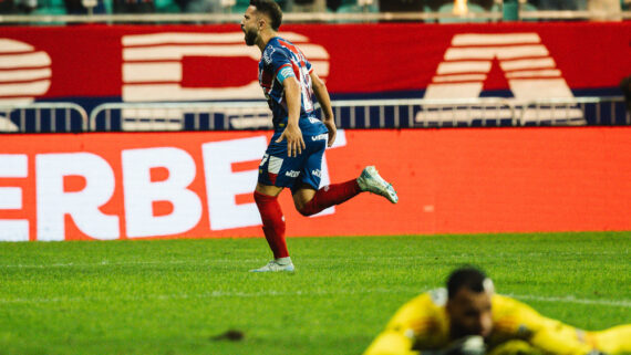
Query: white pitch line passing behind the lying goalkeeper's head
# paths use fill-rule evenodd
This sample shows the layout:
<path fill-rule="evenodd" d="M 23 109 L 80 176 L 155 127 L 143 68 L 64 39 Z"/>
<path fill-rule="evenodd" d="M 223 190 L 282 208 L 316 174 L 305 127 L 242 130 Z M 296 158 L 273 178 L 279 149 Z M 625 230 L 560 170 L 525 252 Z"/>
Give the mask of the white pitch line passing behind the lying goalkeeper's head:
<path fill-rule="evenodd" d="M 236 297 L 236 299 L 254 299 L 254 297 L 269 297 L 269 296 L 313 296 L 313 295 L 338 295 L 338 294 L 400 294 L 410 293 L 418 294 L 420 290 L 430 290 L 431 288 L 423 286 L 420 289 L 402 288 L 402 289 L 369 289 L 359 291 L 329 291 L 329 290 L 317 290 L 317 291 L 258 291 L 258 292 L 238 292 L 238 291 L 213 291 L 205 293 L 167 293 L 167 294 L 144 294 L 142 296 L 121 296 L 116 300 L 141 302 L 145 300 L 159 300 L 159 301 L 170 301 L 170 300 L 199 300 L 199 299 L 223 299 L 223 297 Z M 530 300 L 530 301 L 541 301 L 551 303 L 578 303 L 578 304 L 596 304 L 604 306 L 617 306 L 617 307 L 631 307 L 631 300 L 588 300 L 588 299 L 577 299 L 572 295 L 567 296 L 540 296 L 540 295 L 525 295 L 525 294 L 506 294 L 507 296 L 515 297 L 518 300 Z M 0 299 L 0 304 L 9 303 L 56 303 L 56 302 L 107 302 L 112 299 L 100 299 L 100 297 L 50 297 L 50 299 Z"/>

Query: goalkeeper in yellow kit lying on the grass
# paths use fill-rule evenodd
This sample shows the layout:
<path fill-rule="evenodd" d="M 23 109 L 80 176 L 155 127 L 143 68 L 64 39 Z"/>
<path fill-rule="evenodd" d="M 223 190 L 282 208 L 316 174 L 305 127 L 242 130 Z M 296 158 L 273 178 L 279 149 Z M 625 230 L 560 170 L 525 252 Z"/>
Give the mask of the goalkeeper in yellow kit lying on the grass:
<path fill-rule="evenodd" d="M 385 354 L 631 354 L 631 324 L 585 332 L 494 294 L 476 269 L 454 271 L 447 290 L 401 307 L 364 355 Z"/>

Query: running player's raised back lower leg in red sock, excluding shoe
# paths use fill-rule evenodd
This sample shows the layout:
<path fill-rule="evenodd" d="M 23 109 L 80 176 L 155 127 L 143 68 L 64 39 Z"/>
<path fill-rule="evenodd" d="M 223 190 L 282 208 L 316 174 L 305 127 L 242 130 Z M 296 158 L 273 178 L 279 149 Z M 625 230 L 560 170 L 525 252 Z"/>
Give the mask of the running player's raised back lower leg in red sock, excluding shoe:
<path fill-rule="evenodd" d="M 324 186 L 318 191 L 311 186 L 304 185 L 303 188 L 293 194 L 293 203 L 302 216 L 311 216 L 331 206 L 343 203 L 360 192 L 361 189 L 356 179 Z"/>

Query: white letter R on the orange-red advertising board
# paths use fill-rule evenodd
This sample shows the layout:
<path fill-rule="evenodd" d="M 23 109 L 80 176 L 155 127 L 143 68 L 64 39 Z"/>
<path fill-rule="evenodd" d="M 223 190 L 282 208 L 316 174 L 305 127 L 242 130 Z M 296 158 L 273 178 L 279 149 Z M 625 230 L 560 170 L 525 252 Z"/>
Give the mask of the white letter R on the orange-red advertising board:
<path fill-rule="evenodd" d="M 120 236 L 117 216 L 99 210 L 114 194 L 114 171 L 102 157 L 91 153 L 39 154 L 35 157 L 38 240 L 64 240 L 64 217 L 70 215 L 79 230 L 96 239 Z M 82 176 L 81 191 L 65 192 L 65 176 Z"/>

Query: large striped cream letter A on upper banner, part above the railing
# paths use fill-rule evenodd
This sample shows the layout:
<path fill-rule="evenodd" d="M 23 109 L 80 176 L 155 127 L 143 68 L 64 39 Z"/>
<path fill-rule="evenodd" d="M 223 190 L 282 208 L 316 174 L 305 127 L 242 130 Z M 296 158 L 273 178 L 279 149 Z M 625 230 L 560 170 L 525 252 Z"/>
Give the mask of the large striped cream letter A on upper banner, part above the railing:
<path fill-rule="evenodd" d="M 454 35 L 424 98 L 478 97 L 495 59 L 517 100 L 573 97 L 539 34 L 532 32 Z"/>

